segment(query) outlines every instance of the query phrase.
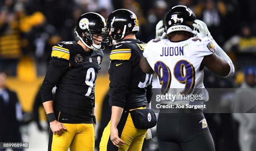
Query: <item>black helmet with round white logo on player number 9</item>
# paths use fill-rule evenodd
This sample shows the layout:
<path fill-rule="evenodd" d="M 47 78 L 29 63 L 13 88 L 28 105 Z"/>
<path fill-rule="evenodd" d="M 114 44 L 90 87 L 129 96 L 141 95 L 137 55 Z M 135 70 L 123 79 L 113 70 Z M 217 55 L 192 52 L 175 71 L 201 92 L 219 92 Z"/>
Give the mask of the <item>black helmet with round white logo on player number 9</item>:
<path fill-rule="evenodd" d="M 102 15 L 95 12 L 87 12 L 78 18 L 75 26 L 75 34 L 86 47 L 92 50 L 104 50 L 104 45 L 101 45 L 101 43 L 96 45 L 94 43 L 95 39 L 93 38 L 93 34 L 102 35 L 102 37 L 104 37 L 104 35 L 107 34 L 105 27 L 106 22 Z M 104 42 L 104 40 L 102 42 Z"/>

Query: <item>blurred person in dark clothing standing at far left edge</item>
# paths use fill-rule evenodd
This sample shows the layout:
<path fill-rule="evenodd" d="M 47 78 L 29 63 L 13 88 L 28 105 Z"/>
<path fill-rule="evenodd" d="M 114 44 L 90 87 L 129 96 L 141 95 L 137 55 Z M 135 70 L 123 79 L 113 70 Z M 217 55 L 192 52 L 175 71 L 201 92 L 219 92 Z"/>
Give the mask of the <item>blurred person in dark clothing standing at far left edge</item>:
<path fill-rule="evenodd" d="M 21 142 L 22 109 L 17 94 L 5 86 L 6 75 L 0 71 L 0 142 Z M 13 149 L 23 151 L 23 149 Z M 5 149 L 0 149 L 5 151 Z"/>

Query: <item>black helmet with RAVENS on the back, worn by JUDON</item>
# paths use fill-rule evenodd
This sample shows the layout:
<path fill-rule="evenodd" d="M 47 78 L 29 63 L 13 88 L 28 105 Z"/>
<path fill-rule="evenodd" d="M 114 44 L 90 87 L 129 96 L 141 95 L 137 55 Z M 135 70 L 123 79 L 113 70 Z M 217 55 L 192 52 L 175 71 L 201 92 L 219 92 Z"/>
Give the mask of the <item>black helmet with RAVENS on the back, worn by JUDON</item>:
<path fill-rule="evenodd" d="M 166 34 L 176 31 L 191 32 L 193 30 L 192 23 L 196 16 L 190 8 L 183 5 L 177 5 L 169 10 L 165 17 L 165 30 Z"/>

